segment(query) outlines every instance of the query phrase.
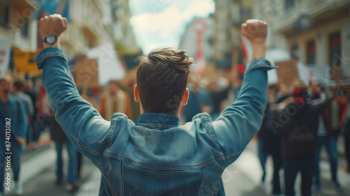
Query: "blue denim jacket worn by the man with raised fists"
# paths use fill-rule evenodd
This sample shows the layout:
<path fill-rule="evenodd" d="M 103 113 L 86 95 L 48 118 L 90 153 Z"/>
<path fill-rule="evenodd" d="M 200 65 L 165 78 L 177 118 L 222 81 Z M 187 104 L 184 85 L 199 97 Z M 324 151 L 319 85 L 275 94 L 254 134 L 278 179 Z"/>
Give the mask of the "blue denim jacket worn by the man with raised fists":
<path fill-rule="evenodd" d="M 102 173 L 99 195 L 225 195 L 221 174 L 258 131 L 267 102 L 266 59 L 247 66 L 241 92 L 214 122 L 200 113 L 186 125 L 166 113 L 135 124 L 111 121 L 80 97 L 61 50 L 35 57 L 54 116 L 78 151 Z"/>

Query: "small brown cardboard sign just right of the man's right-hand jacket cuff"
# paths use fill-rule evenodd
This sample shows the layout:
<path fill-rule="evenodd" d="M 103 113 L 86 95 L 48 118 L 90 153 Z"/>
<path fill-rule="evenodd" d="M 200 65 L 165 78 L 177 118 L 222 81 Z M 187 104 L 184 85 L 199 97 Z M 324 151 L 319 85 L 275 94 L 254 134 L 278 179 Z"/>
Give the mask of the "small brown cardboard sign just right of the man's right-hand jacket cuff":
<path fill-rule="evenodd" d="M 281 84 L 290 86 L 295 78 L 299 78 L 295 59 L 291 59 L 288 62 L 276 62 L 275 65 L 279 66 L 279 69 L 276 69 L 276 71 Z"/>

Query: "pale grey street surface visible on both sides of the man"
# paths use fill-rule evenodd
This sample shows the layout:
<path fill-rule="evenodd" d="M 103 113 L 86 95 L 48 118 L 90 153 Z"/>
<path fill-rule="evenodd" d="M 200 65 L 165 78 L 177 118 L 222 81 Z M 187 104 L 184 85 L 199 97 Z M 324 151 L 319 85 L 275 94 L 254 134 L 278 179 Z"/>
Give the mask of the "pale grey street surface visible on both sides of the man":
<path fill-rule="evenodd" d="M 223 173 L 223 182 L 226 195 L 271 195 L 272 186 L 272 160 L 267 160 L 267 177 L 265 183 L 261 183 L 261 169 L 256 156 L 256 142 L 253 140 L 248 144 L 244 153 L 228 167 Z M 66 153 L 64 159 L 67 158 Z M 339 159 L 342 160 L 342 159 Z M 340 161 L 341 162 L 341 161 Z M 99 183 L 101 174 L 97 167 L 94 167 L 90 160 L 83 159 L 83 176 L 80 179 L 80 189 L 76 193 L 67 193 L 65 186 L 56 186 L 55 184 L 55 151 L 53 146 L 46 144 L 36 150 L 25 151 L 22 158 L 22 181 L 24 181 L 25 196 L 95 196 L 99 193 Z M 66 165 L 64 166 L 66 167 Z M 339 168 L 339 182 L 342 183 L 344 190 L 337 192 L 331 185 L 328 162 L 321 162 L 322 192 L 321 195 L 350 195 L 349 174 Z M 66 170 L 64 170 L 66 171 Z M 281 179 L 283 179 L 283 172 Z M 300 177 L 296 184 L 300 183 Z M 282 183 L 283 184 L 283 183 Z M 299 186 L 295 186 L 299 190 Z"/>

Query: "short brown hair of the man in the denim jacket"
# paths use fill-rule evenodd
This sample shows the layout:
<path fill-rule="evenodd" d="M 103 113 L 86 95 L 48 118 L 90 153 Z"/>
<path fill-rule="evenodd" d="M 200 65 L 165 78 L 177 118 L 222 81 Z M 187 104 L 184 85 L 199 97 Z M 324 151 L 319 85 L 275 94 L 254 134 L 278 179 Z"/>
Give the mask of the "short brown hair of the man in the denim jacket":
<path fill-rule="evenodd" d="M 186 90 L 190 65 L 186 50 L 155 48 L 139 57 L 137 86 L 145 113 L 176 113 Z"/>

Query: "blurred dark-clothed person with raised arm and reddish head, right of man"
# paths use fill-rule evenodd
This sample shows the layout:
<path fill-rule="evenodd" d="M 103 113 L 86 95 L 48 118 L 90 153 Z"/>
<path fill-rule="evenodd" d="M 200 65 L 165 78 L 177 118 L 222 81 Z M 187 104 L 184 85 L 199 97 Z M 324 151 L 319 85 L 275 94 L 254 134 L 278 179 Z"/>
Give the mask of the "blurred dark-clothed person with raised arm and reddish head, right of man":
<path fill-rule="evenodd" d="M 320 99 L 310 100 L 307 86 L 295 79 L 291 85 L 293 97 L 279 114 L 274 128 L 281 127 L 281 153 L 284 164 L 284 183 L 286 196 L 295 195 L 294 183 L 297 172 L 301 172 L 302 196 L 311 195 L 312 177 L 315 171 L 317 148 L 318 115 L 327 104 L 325 94 Z"/>

